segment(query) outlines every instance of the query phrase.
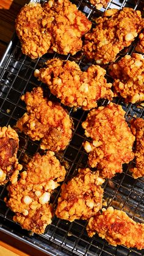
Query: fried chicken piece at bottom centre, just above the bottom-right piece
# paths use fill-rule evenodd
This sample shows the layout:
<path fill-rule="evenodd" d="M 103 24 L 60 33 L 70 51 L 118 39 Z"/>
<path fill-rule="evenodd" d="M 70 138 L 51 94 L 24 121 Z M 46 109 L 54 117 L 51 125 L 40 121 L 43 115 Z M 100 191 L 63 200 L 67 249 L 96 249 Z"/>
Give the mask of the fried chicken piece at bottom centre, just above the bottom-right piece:
<path fill-rule="evenodd" d="M 74 219 L 89 219 L 102 207 L 103 178 L 99 172 L 90 169 L 79 169 L 79 174 L 62 185 L 61 196 L 58 199 L 56 215 L 58 218 L 74 221 Z"/>

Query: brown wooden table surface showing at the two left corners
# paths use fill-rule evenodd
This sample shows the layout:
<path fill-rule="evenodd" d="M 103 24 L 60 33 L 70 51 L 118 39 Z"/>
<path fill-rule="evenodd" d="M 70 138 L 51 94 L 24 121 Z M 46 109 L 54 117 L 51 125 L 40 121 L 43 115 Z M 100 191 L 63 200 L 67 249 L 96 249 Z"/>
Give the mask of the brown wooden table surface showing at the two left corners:
<path fill-rule="evenodd" d="M 29 0 L 0 0 L 0 59 L 15 31 L 15 18 Z M 0 232 L 0 256 L 46 255 Z"/>

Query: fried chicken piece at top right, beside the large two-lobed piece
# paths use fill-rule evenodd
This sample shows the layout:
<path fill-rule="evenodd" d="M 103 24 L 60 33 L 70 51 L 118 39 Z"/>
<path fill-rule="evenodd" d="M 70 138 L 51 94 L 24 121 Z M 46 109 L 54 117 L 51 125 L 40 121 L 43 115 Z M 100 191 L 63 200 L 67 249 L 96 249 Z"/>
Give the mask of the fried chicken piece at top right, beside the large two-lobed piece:
<path fill-rule="evenodd" d="M 96 20 L 96 27 L 85 35 L 84 52 L 96 64 L 107 64 L 116 59 L 124 47 L 131 45 L 142 30 L 143 20 L 139 10 L 123 8 L 106 10 Z"/>

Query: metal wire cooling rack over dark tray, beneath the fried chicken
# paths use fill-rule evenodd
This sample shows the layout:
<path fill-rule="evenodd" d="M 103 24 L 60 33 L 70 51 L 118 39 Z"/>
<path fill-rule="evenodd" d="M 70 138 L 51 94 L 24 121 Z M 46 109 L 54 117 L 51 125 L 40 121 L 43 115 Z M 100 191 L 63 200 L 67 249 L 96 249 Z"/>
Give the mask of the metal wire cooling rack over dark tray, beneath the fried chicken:
<path fill-rule="evenodd" d="M 35 1 L 40 2 L 40 1 Z M 45 1 L 41 1 L 45 2 Z M 78 9 L 93 22 L 95 17 L 103 15 L 105 9 L 98 11 L 90 5 L 90 2 L 71 1 L 77 5 Z M 107 8 L 132 7 L 133 9 L 143 10 L 143 1 L 134 0 L 113 0 L 107 5 Z M 136 42 L 136 41 L 135 41 Z M 135 42 L 129 48 L 121 51 L 120 56 L 131 54 L 135 51 Z M 18 38 L 14 35 L 7 48 L 0 64 L 0 125 L 15 125 L 16 121 L 26 112 L 25 104 L 20 100 L 21 95 L 26 91 L 31 91 L 35 86 L 42 86 L 34 78 L 35 68 L 40 68 L 46 60 L 59 57 L 60 59 L 75 60 L 82 70 L 85 70 L 92 63 L 88 62 L 83 53 L 77 53 L 75 56 L 62 56 L 60 54 L 45 54 L 40 59 L 32 60 L 21 53 L 21 46 Z M 95 64 L 95 62 L 93 62 Z M 107 68 L 105 66 L 105 68 Z M 110 76 L 107 76 L 110 80 Z M 56 97 L 49 93 L 51 100 Z M 125 104 L 120 98 L 115 103 L 121 104 L 126 111 L 126 120 L 132 117 L 143 117 L 143 108 L 139 104 Z M 99 101 L 99 105 L 105 104 L 105 101 Z M 67 161 L 66 181 L 73 177 L 79 167 L 87 166 L 87 153 L 85 153 L 82 143 L 85 141 L 84 130 L 81 123 L 85 120 L 87 112 L 78 109 L 73 112 L 72 108 L 67 108 L 74 122 L 74 132 L 70 145 L 63 151 L 56 154 L 61 163 Z M 23 155 L 33 156 L 34 153 L 40 152 L 40 142 L 33 142 L 23 133 L 19 134 L 20 148 L 18 156 L 20 163 L 23 163 Z M 133 164 L 133 163 L 131 163 Z M 129 167 L 131 164 L 123 165 L 123 173 L 117 174 L 112 180 L 104 183 L 104 199 L 107 200 L 107 206 L 124 210 L 135 221 L 143 222 L 144 219 L 144 179 L 134 180 Z M 57 202 L 60 188 L 53 196 L 52 202 Z M 105 240 L 98 235 L 89 238 L 85 231 L 87 223 L 85 221 L 74 221 L 72 223 L 63 221 L 54 216 L 52 224 L 46 228 L 45 235 L 31 234 L 27 230 L 21 229 L 20 225 L 13 222 L 13 213 L 5 206 L 4 197 L 7 195 L 6 186 L 0 186 L 0 230 L 17 240 L 23 241 L 48 255 L 124 255 L 136 256 L 144 255 L 144 250 L 128 249 L 124 246 L 110 246 Z"/>

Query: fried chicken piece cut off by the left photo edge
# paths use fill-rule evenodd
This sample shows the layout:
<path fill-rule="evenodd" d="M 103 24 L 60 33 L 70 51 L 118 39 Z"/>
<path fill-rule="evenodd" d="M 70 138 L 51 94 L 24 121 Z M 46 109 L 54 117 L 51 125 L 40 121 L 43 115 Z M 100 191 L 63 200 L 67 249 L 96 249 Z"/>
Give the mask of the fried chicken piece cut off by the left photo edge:
<path fill-rule="evenodd" d="M 10 125 L 0 127 L 0 185 L 9 180 L 15 183 L 19 170 L 22 169 L 16 158 L 18 144 L 18 134 Z"/>

